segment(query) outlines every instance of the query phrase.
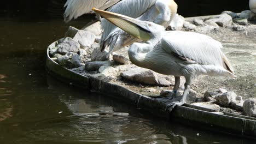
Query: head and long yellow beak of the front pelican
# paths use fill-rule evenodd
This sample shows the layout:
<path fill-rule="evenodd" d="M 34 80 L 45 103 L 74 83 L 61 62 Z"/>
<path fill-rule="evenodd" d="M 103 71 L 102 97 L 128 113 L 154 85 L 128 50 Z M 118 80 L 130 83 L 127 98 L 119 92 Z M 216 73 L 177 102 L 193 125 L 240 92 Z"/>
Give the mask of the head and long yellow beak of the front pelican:
<path fill-rule="evenodd" d="M 133 37 L 142 40 L 149 40 L 165 31 L 165 28 L 161 25 L 157 25 L 154 22 L 140 21 L 133 19 L 132 17 L 112 13 L 109 11 L 99 10 L 92 8 L 96 13 L 113 23 L 115 26 L 123 29 L 125 32 L 131 34 Z"/>

